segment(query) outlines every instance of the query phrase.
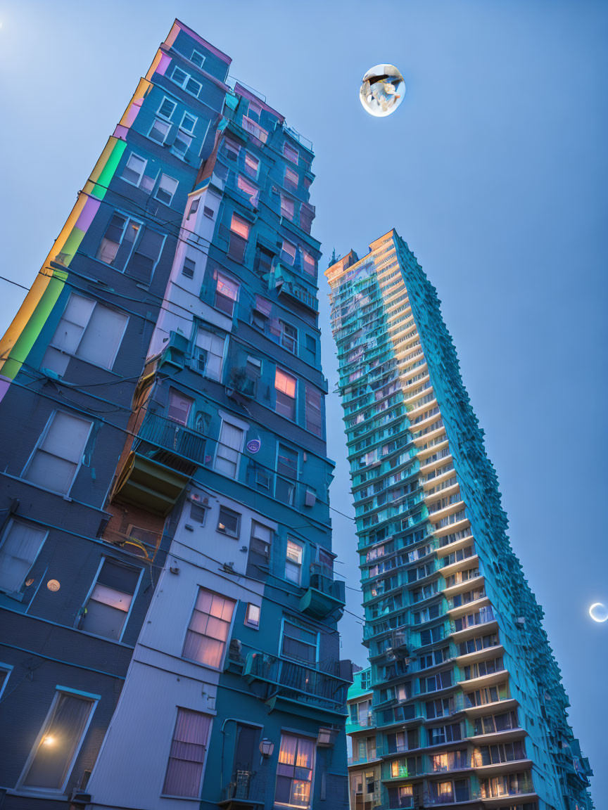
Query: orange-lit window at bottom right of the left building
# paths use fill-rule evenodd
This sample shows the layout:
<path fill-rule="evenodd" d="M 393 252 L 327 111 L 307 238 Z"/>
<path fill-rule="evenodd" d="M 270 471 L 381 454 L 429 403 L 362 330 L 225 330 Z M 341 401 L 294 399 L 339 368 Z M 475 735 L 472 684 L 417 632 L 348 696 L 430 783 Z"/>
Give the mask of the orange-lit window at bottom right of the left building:
<path fill-rule="evenodd" d="M 280 735 L 276 765 L 275 804 L 310 807 L 310 787 L 315 767 L 315 740 L 292 734 Z"/>

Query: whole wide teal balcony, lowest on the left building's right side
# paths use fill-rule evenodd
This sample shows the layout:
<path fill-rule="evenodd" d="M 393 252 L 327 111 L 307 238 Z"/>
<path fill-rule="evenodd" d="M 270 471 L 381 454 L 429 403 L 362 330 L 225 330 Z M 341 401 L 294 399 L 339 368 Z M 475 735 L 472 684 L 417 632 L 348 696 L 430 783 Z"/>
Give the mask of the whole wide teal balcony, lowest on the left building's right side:
<path fill-rule="evenodd" d="M 346 662 L 336 662 L 345 669 Z M 328 718 L 339 722 L 346 714 L 346 691 L 350 681 L 345 673 L 332 675 L 306 667 L 303 663 L 281 659 L 268 653 L 250 652 L 246 656 L 242 676 L 248 684 L 272 684 L 265 698 L 272 711 L 285 708 L 295 714 Z"/>

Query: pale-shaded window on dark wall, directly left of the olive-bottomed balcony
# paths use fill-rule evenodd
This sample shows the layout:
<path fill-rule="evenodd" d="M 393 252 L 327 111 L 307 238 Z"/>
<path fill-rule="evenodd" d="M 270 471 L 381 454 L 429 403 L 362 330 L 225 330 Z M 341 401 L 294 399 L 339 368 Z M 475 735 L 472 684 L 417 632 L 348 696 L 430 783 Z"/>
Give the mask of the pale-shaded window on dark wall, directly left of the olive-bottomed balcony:
<path fill-rule="evenodd" d="M 23 477 L 54 492 L 70 492 L 92 422 L 65 411 L 50 416 Z"/>

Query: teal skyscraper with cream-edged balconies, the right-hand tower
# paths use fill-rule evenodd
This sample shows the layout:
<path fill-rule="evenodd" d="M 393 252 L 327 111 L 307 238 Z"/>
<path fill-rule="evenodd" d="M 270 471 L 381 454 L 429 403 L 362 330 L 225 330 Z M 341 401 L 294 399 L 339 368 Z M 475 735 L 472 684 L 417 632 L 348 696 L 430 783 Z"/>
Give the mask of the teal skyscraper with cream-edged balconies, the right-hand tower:
<path fill-rule="evenodd" d="M 589 810 L 435 288 L 394 230 L 326 275 L 370 660 L 349 693 L 351 808 Z"/>

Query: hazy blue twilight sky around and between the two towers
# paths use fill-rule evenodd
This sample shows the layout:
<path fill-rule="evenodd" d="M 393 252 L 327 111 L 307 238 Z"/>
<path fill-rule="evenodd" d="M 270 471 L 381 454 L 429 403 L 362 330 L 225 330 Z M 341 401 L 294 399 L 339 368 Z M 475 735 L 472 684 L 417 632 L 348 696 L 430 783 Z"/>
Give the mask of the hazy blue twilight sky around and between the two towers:
<path fill-rule="evenodd" d="M 608 4 L 0 0 L 1 275 L 32 282 L 173 16 L 313 141 L 325 256 L 362 254 L 394 226 L 438 288 L 602 808 L 608 623 L 587 608 L 608 602 Z M 383 119 L 358 100 L 379 62 L 399 66 L 408 87 Z M 326 290 L 322 278 L 332 390 Z M 23 291 L 0 291 L 3 331 Z M 352 514 L 332 395 L 328 436 L 332 505 Z M 353 524 L 339 514 L 333 524 L 360 616 Z M 361 626 L 346 616 L 341 631 L 345 657 L 364 663 Z"/>

